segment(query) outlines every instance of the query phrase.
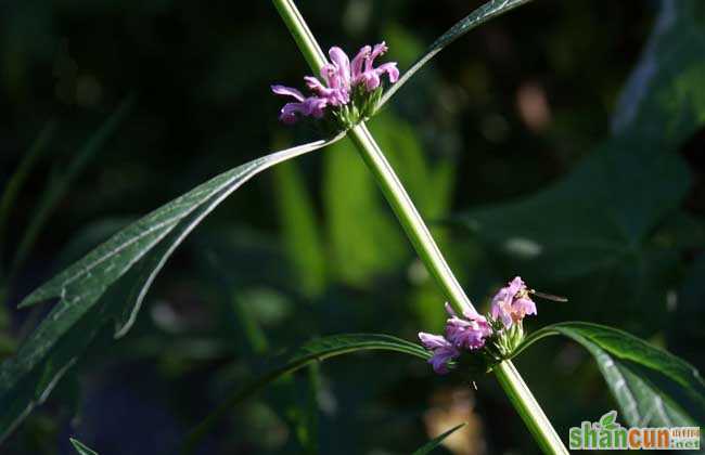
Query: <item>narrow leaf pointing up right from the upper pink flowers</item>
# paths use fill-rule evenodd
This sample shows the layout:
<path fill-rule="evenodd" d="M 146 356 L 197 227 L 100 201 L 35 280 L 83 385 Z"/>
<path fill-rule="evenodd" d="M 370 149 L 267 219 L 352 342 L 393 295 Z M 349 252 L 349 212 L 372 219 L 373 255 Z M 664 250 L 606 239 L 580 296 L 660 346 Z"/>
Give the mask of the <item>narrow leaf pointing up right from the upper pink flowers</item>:
<path fill-rule="evenodd" d="M 399 80 L 392 84 L 389 89 L 384 93 L 384 96 L 382 96 L 382 100 L 380 101 L 380 104 L 377 104 L 377 109 L 380 109 L 394 94 L 411 79 L 411 76 L 413 76 L 423 65 L 425 65 L 431 58 L 433 58 L 438 52 L 443 51 L 446 46 L 450 44 L 451 42 L 456 41 L 458 38 L 462 37 L 470 30 L 474 29 L 475 27 L 478 27 L 486 23 L 487 21 L 497 17 L 501 14 L 504 14 L 517 6 L 521 6 L 524 3 L 528 3 L 530 0 L 492 0 L 488 1 L 487 3 L 483 4 L 465 17 L 463 17 L 461 21 L 456 23 L 452 27 L 448 29 L 445 34 L 440 36 L 437 40 L 435 40 L 428 49 L 426 49 L 426 53 L 424 53 L 409 69 L 402 73 L 401 77 Z"/>

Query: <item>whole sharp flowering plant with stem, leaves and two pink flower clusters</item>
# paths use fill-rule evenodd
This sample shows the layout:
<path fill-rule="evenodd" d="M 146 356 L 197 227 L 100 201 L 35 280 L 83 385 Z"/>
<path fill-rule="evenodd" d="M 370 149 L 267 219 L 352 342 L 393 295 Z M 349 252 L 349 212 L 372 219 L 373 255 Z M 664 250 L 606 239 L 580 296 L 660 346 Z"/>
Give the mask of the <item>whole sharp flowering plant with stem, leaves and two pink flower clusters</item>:
<path fill-rule="evenodd" d="M 551 335 L 566 336 L 594 356 L 629 425 L 688 426 L 696 422 L 705 408 L 705 385 L 695 368 L 639 338 L 602 325 L 568 322 L 525 334 L 524 318 L 537 314 L 533 297 L 540 292 L 528 288 L 521 277 L 502 287 L 491 299 L 489 311 L 480 314 L 367 128 L 366 121 L 446 46 L 491 17 L 527 2 L 487 2 L 451 27 L 416 63 L 400 74 L 396 63 L 380 63 L 387 51 L 384 41 L 363 46 L 351 61 L 337 47 L 331 48 L 326 57 L 293 0 L 273 0 L 303 56 L 318 75 L 304 77 L 304 91 L 282 84 L 271 87 L 275 95 L 287 100 L 279 118 L 286 125 L 302 120 L 318 122 L 324 131 L 332 132 L 325 139 L 264 155 L 196 186 L 123 229 L 27 296 L 21 307 L 49 299 L 57 302 L 15 356 L 0 366 L 0 440 L 49 396 L 99 329 L 115 327 L 116 337 L 130 329 L 167 259 L 222 200 L 262 170 L 344 136 L 356 145 L 448 302 L 444 332 L 437 335 L 420 333 L 421 344 L 380 334 L 317 338 L 223 398 L 222 403 L 187 437 L 184 453 L 197 448 L 233 405 L 278 377 L 335 355 L 387 350 L 426 361 L 438 374 L 466 372 L 471 378 L 493 374 L 539 447 L 548 454 L 567 454 L 550 419 L 512 363 L 512 359 L 528 346 Z M 118 282 L 119 287 L 116 286 Z M 669 387 L 662 389 L 661 382 L 645 379 L 641 374 L 644 370 L 664 379 Z"/>

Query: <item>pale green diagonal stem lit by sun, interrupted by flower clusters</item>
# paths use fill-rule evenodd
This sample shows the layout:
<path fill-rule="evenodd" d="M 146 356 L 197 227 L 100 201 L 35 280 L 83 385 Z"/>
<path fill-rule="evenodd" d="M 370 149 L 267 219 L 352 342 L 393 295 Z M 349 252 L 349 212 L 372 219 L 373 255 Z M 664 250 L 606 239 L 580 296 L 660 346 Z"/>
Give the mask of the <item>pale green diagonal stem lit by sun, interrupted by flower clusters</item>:
<path fill-rule="evenodd" d="M 313 34 L 308 28 L 293 0 L 272 1 L 311 69 L 318 74 L 326 63 L 325 54 L 323 54 L 321 47 L 316 41 Z M 409 239 L 419 252 L 421 260 L 434 276 L 443 292 L 457 308 L 469 308 L 474 311 L 470 299 L 452 274 L 450 266 L 440 253 L 407 191 L 366 125 L 361 122 L 351 128 L 349 134 L 362 159 L 374 174 L 377 184 L 389 202 Z M 495 368 L 495 373 L 541 450 L 547 454 L 567 454 L 568 452 L 553 426 L 512 362 L 509 360 L 502 362 Z"/>

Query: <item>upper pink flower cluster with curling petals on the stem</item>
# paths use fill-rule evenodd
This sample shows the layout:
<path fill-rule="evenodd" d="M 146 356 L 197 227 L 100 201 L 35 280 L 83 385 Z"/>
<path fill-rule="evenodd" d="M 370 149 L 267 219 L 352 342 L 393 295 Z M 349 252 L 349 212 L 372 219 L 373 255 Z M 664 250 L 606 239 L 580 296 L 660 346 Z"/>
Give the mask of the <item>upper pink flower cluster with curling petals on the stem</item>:
<path fill-rule="evenodd" d="M 279 95 L 291 96 L 296 102 L 286 103 L 282 107 L 279 119 L 287 125 L 295 123 L 298 116 L 321 118 L 328 106 L 343 106 L 350 102 L 352 90 L 357 87 L 363 88 L 367 93 L 373 92 L 382 84 L 382 76 L 387 75 L 389 82 L 394 83 L 399 79 L 399 69 L 395 62 L 373 66 L 374 60 L 387 51 L 384 42 L 374 48 L 366 46 L 352 58 L 337 47 L 329 51 L 332 63 L 326 63 L 321 68 L 321 80 L 306 76 L 306 87 L 313 93 L 311 96 L 304 96 L 297 89 L 284 86 L 272 86 L 272 92 Z"/>

